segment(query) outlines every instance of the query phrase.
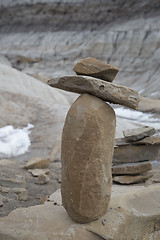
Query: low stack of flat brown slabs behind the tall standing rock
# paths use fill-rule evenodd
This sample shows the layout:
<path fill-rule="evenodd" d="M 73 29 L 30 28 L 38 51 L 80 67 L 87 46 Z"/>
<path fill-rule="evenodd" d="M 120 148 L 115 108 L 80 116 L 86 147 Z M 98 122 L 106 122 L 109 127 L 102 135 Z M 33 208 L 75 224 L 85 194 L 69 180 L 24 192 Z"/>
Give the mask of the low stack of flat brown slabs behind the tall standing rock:
<path fill-rule="evenodd" d="M 123 132 L 116 139 L 113 155 L 113 182 L 140 183 L 152 177 L 150 161 L 160 157 L 160 136 L 152 127 L 141 127 Z M 154 136 L 152 136 L 154 135 Z"/>

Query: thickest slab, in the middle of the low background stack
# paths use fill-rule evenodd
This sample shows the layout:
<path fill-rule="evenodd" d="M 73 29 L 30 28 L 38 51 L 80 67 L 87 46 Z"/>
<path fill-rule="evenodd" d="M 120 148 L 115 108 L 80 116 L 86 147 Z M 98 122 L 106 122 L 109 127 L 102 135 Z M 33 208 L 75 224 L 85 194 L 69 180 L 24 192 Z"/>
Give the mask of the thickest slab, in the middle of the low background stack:
<path fill-rule="evenodd" d="M 134 163 L 157 160 L 160 157 L 160 144 L 122 145 L 114 148 L 113 163 Z"/>

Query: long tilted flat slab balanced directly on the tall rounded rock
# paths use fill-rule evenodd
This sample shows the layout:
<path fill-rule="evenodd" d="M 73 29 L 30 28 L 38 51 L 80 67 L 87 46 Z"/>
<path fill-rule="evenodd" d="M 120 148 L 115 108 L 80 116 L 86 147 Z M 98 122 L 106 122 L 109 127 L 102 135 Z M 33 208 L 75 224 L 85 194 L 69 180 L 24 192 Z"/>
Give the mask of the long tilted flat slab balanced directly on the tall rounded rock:
<path fill-rule="evenodd" d="M 90 93 L 104 101 L 137 109 L 140 95 L 131 88 L 88 76 L 64 76 L 48 81 L 51 87 L 75 93 Z"/>

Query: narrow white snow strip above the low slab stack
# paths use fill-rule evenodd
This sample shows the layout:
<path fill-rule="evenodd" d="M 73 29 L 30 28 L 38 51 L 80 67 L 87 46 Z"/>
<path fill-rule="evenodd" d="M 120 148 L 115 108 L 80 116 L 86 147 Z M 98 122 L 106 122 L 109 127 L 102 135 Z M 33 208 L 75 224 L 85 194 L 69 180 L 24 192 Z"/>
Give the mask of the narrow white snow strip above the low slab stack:
<path fill-rule="evenodd" d="M 152 113 L 143 113 L 124 107 L 115 108 L 114 110 L 116 116 L 120 118 L 128 119 L 138 124 L 151 126 L 155 129 L 160 129 L 160 121 L 159 119 L 155 118 Z"/>

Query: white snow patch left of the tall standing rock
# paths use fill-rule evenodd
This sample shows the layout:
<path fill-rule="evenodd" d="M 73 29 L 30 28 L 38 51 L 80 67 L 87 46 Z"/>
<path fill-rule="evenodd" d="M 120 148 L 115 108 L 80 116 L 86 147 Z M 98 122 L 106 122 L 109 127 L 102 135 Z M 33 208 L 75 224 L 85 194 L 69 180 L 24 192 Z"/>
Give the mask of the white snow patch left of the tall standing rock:
<path fill-rule="evenodd" d="M 19 129 L 8 125 L 0 128 L 0 158 L 9 158 L 24 154 L 31 145 L 29 134 L 34 126 Z"/>

